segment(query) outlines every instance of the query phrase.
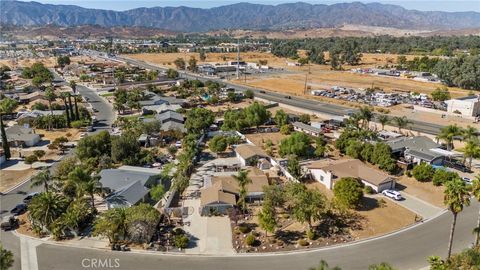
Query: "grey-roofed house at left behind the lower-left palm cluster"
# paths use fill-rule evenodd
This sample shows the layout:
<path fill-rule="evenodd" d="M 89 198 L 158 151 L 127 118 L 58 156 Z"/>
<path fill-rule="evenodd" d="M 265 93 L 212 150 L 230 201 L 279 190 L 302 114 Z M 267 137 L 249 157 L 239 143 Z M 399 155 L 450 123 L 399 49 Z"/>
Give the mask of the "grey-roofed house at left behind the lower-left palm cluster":
<path fill-rule="evenodd" d="M 150 188 L 161 184 L 167 190 L 170 182 L 160 181 L 158 169 L 136 166 L 121 166 L 100 172 L 100 183 L 109 195 L 105 198 L 107 207 L 130 207 L 149 199 Z"/>

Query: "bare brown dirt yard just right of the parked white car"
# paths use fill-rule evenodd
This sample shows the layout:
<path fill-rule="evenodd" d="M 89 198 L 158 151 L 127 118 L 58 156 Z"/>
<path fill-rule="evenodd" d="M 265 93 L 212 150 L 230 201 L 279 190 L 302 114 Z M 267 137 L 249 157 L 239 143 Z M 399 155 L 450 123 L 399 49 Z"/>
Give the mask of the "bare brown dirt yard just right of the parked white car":
<path fill-rule="evenodd" d="M 397 181 L 397 189 L 407 192 L 417 198 L 429 202 L 438 207 L 445 207 L 443 204 L 443 192 L 445 187 L 436 187 L 432 182 L 419 182 L 415 178 L 402 176 Z"/>

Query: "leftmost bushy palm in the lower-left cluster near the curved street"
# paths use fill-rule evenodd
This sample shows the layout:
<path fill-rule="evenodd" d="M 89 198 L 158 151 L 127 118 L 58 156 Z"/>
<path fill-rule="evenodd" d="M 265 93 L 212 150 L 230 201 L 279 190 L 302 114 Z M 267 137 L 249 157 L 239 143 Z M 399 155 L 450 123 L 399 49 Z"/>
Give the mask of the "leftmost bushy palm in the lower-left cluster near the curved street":
<path fill-rule="evenodd" d="M 51 229 L 53 222 L 65 211 L 67 199 L 58 193 L 42 192 L 28 205 L 29 216 L 34 226 Z"/>

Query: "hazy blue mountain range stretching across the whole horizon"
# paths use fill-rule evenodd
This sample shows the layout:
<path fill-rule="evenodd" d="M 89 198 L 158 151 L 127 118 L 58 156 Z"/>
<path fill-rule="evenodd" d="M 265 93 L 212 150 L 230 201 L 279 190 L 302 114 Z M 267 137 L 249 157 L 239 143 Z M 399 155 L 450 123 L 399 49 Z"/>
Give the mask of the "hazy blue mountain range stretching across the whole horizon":
<path fill-rule="evenodd" d="M 2 0 L 0 23 L 27 26 L 135 26 L 178 32 L 336 28 L 346 24 L 450 30 L 480 27 L 480 13 L 417 11 L 395 5 L 360 2 L 333 5 L 299 2 L 276 6 L 238 3 L 210 9 L 153 7 L 112 11 Z"/>

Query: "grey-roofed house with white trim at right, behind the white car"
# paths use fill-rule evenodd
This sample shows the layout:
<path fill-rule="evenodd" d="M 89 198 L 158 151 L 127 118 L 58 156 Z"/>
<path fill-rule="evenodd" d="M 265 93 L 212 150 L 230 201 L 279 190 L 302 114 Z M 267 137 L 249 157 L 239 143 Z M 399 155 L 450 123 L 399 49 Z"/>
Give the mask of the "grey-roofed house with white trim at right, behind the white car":
<path fill-rule="evenodd" d="M 392 154 L 408 163 L 442 165 L 445 161 L 443 152 L 436 151 L 441 146 L 425 136 L 400 137 L 385 143 L 392 149 Z"/>

